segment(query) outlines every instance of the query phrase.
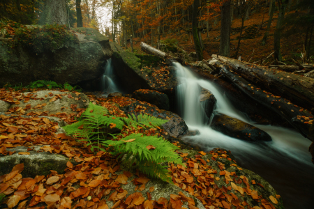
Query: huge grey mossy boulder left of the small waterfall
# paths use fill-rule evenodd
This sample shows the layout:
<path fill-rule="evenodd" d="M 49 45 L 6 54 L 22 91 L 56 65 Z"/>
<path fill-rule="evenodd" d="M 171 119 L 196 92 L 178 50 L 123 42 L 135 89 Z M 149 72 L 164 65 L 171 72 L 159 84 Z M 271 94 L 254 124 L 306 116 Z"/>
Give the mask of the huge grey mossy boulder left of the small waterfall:
<path fill-rule="evenodd" d="M 6 83 L 26 86 L 41 79 L 59 84 L 96 79 L 102 75 L 106 59 L 121 50 L 96 29 L 79 28 L 70 32 L 74 33 L 74 39 L 67 46 L 38 54 L 22 45 L 11 48 L 10 40 L 0 40 L 0 86 Z"/>

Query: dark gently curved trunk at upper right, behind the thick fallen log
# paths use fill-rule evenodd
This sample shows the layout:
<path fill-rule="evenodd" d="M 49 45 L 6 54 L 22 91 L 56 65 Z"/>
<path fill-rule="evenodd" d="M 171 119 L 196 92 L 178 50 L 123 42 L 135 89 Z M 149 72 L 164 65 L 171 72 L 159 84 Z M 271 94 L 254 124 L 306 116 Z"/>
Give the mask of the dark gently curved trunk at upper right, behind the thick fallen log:
<path fill-rule="evenodd" d="M 281 56 L 281 30 L 283 26 L 283 20 L 285 19 L 285 8 L 287 6 L 287 1 L 278 1 L 279 5 L 279 15 L 278 15 L 278 20 L 277 20 L 277 25 L 276 25 L 276 31 L 274 34 L 274 58 L 278 61 L 282 61 L 282 56 Z"/>

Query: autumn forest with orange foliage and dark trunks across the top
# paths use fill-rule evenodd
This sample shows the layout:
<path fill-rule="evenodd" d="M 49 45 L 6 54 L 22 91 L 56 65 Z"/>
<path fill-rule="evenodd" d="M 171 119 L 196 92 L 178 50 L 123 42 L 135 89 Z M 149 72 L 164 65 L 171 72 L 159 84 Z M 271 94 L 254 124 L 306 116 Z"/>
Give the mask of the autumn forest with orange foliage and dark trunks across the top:
<path fill-rule="evenodd" d="M 40 22 L 40 16 L 50 1 L 0 0 L 0 14 L 13 20 L 11 24 L 45 24 Z M 140 42 L 144 41 L 157 48 L 165 43 L 173 46 L 170 50 L 177 51 L 179 47 L 188 53 L 196 52 L 198 60 L 209 59 L 211 54 L 235 59 L 241 56 L 242 60 L 264 65 L 291 64 L 302 56 L 307 62 L 312 59 L 312 0 L 57 0 L 54 3 L 59 1 L 66 1 L 68 26 L 97 29 L 126 50 L 137 53 L 142 53 Z M 9 26 L 6 29 L 10 34 Z M 271 59 L 265 61 L 266 57 Z"/>

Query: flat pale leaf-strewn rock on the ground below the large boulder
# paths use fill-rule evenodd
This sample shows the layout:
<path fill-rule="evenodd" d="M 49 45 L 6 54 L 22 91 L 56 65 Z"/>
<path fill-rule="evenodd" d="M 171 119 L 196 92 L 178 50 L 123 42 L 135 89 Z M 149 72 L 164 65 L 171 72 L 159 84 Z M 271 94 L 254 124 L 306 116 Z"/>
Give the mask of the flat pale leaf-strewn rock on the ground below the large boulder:
<path fill-rule="evenodd" d="M 47 111 L 48 114 L 57 114 L 58 112 L 76 114 L 77 111 L 73 111 L 71 107 L 84 109 L 89 105 L 89 98 L 84 93 L 38 91 L 36 93 L 25 92 L 22 93 L 22 96 L 29 97 L 29 101 L 24 102 L 25 100 L 21 100 L 20 104 L 12 104 L 10 109 L 15 107 L 24 109 L 27 105 L 31 105 L 31 109 L 25 111 L 26 114 L 31 111 Z"/>

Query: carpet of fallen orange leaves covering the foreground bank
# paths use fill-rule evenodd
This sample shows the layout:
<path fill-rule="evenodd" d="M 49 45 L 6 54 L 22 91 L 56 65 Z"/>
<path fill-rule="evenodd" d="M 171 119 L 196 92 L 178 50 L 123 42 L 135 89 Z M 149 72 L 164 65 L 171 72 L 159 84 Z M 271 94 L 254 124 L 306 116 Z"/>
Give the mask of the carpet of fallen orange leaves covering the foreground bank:
<path fill-rule="evenodd" d="M 27 98 L 36 99 L 31 95 L 22 98 L 20 92 L 12 90 L 1 89 L 0 92 L 1 100 L 15 104 L 27 100 Z M 56 96 L 67 95 L 68 93 Z M 112 115 L 125 116 L 124 112 L 112 102 L 102 102 L 92 97 L 90 99 L 92 102 L 110 109 Z M 120 105 L 130 102 L 128 98 L 113 98 L 113 100 Z M 179 192 L 179 195 L 170 195 L 170 201 L 163 197 L 153 200 L 151 192 L 154 192 L 154 187 L 150 187 L 147 198 L 144 198 L 142 193 L 136 192 L 136 190 L 143 191 L 149 178 L 138 171 L 136 173 L 121 171 L 120 161 L 116 156 L 103 151 L 94 154 L 90 147 L 85 146 L 83 142 L 76 141 L 66 134 L 57 134 L 59 128 L 57 122 L 40 117 L 41 114 L 36 114 L 36 112 L 25 117 L 24 111 L 25 109 L 14 109 L 14 111 L 11 109 L 8 113 L 0 116 L 0 155 L 12 155 L 13 152 L 7 151 L 7 148 L 27 146 L 29 147 L 27 151 L 31 151 L 33 146 L 40 145 L 42 147 L 38 152 L 66 155 L 69 160 L 74 159 L 80 164 L 74 166 L 68 162 L 64 174 L 51 171 L 47 176 L 36 176 L 35 178 L 23 178 L 21 173 L 24 164 L 15 165 L 10 173 L 0 176 L 0 194 L 6 194 L 8 197 L 4 202 L 8 208 L 107 209 L 109 208 L 107 201 L 113 201 L 113 209 L 179 209 L 183 208 L 184 202 L 188 202 L 189 208 L 196 208 L 194 199 L 187 197 L 182 192 Z M 76 109 L 76 111 L 77 116 L 84 110 Z M 66 123 L 76 121 L 75 114 L 60 113 L 53 116 L 62 118 Z M 272 203 L 278 203 L 277 199 L 280 196 L 267 197 L 271 199 L 272 203 L 270 203 L 257 191 L 250 189 L 250 184 L 258 184 L 254 180 L 249 183 L 245 176 L 237 176 L 236 173 L 225 170 L 225 164 L 218 162 L 217 159 L 225 158 L 232 162 L 232 166 L 237 167 L 235 161 L 228 157 L 225 150 L 213 150 L 208 153 L 212 155 L 211 160 L 217 160 L 218 171 L 207 164 L 209 159 L 203 159 L 207 153 L 200 152 L 200 154 L 188 158 L 188 154 L 177 152 L 184 157 L 186 167 L 169 164 L 168 170 L 172 175 L 172 180 L 175 185 L 199 199 L 205 208 L 251 208 L 246 201 L 240 201 L 234 192 L 252 196 L 260 203 L 260 207 L 254 207 L 256 209 L 274 208 Z M 18 154 L 29 155 L 28 152 Z M 241 170 L 240 167 L 238 169 Z M 218 174 L 220 177 L 217 176 Z M 133 178 L 134 175 L 135 178 Z M 131 178 L 133 180 L 130 180 Z M 224 178 L 226 184 L 231 183 L 231 186 L 218 187 L 215 180 L 220 180 L 220 178 Z M 239 186 L 242 182 L 246 184 L 246 187 Z M 128 191 L 121 188 L 121 185 L 128 183 L 136 185 L 135 192 L 132 194 L 128 194 Z M 263 185 L 260 186 L 263 187 Z M 230 191 L 232 189 L 234 192 Z"/>

